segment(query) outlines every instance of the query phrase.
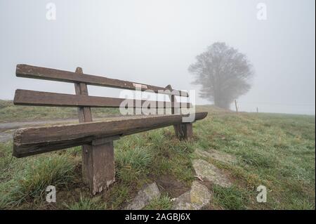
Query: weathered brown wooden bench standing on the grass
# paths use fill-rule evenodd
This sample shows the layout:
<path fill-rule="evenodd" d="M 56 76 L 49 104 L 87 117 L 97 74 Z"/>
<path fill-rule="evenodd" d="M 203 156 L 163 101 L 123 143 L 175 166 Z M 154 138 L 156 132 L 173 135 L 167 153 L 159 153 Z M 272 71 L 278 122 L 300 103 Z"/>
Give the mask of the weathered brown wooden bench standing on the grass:
<path fill-rule="evenodd" d="M 188 108 L 192 105 L 178 103 L 175 98 L 175 95 L 188 97 L 188 94 L 184 91 L 174 91 L 170 85 L 162 88 L 108 79 L 84 74 L 80 67 L 77 67 L 76 72 L 67 72 L 31 65 L 17 65 L 16 76 L 73 83 L 76 95 L 17 89 L 13 102 L 14 105 L 78 107 L 79 124 L 18 129 L 13 137 L 13 155 L 19 158 L 27 157 L 82 145 L 83 179 L 93 195 L 101 192 L 115 180 L 114 140 L 121 136 L 171 125 L 174 126 L 178 138 L 192 137 L 192 122 L 183 122 L 183 117 L 186 115 L 179 113 L 180 108 Z M 88 95 L 87 85 L 134 91 L 137 87 L 139 91 L 151 90 L 154 93 L 164 91 L 164 94 L 169 95 L 170 102 L 152 101 L 150 105 L 157 108 L 162 105 L 164 109 L 171 109 L 171 114 L 112 117 L 104 121 L 93 121 L 91 107 L 120 107 L 125 100 L 136 108 L 143 105 L 145 100 L 91 96 Z M 206 112 L 195 113 L 195 120 L 203 119 L 206 115 Z"/>

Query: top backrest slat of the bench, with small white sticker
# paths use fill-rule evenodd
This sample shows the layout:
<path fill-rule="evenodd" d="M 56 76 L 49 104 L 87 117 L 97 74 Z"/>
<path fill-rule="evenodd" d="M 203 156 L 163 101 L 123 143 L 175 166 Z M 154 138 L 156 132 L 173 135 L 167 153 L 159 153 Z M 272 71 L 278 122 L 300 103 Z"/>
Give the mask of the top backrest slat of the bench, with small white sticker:
<path fill-rule="evenodd" d="M 141 91 L 152 90 L 154 91 L 154 93 L 158 93 L 159 90 L 167 90 L 166 88 L 159 86 L 138 84 L 131 81 L 123 81 L 119 79 L 109 79 L 106 77 L 100 77 L 91 74 L 81 74 L 80 76 L 78 76 L 75 72 L 55 70 L 46 67 L 36 67 L 32 65 L 17 65 L 15 74 L 17 77 L 65 81 L 71 83 L 81 82 L 93 86 L 106 86 L 112 88 L 124 88 L 129 90 L 135 90 L 135 85 L 139 85 Z M 181 95 L 186 97 L 189 96 L 188 93 L 185 91 L 177 91 L 177 93 L 175 92 L 174 95 Z"/>

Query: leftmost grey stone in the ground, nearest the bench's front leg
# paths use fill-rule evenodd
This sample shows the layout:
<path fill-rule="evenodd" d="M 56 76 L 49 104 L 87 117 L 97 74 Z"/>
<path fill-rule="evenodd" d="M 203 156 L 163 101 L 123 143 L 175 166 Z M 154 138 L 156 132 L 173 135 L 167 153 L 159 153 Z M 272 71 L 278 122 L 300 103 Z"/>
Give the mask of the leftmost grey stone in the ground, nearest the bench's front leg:
<path fill-rule="evenodd" d="M 131 204 L 126 206 L 126 210 L 140 210 L 149 204 L 152 199 L 159 198 L 160 192 L 156 183 L 145 185 L 133 199 Z"/>

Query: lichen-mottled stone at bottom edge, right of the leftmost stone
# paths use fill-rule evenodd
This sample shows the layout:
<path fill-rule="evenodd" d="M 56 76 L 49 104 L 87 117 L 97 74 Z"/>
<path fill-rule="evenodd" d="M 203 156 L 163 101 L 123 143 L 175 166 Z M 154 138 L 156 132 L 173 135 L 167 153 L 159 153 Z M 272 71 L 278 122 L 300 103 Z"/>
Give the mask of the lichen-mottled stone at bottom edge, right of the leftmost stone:
<path fill-rule="evenodd" d="M 189 191 L 177 197 L 173 202 L 174 210 L 200 210 L 209 205 L 211 192 L 198 181 L 193 181 Z"/>

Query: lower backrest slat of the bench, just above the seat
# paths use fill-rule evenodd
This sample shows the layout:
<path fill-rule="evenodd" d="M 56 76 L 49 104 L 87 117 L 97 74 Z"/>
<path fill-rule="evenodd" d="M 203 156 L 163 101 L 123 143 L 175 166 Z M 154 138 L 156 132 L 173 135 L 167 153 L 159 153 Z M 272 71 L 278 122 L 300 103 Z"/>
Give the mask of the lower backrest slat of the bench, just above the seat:
<path fill-rule="evenodd" d="M 119 107 L 125 99 L 109 98 L 92 95 L 72 95 L 65 93 L 48 93 L 41 91 L 29 91 L 24 89 L 17 89 L 13 103 L 14 105 L 34 105 L 34 106 L 48 106 L 48 107 Z M 171 108 L 170 102 L 150 101 L 150 100 L 126 100 L 126 102 L 133 107 L 141 107 L 143 103 L 152 105 L 157 108 L 163 105 L 164 108 Z M 178 107 L 192 107 L 191 103 L 178 103 Z"/>

